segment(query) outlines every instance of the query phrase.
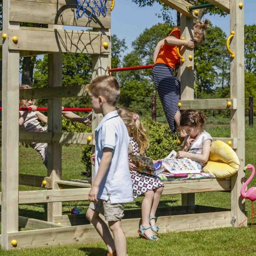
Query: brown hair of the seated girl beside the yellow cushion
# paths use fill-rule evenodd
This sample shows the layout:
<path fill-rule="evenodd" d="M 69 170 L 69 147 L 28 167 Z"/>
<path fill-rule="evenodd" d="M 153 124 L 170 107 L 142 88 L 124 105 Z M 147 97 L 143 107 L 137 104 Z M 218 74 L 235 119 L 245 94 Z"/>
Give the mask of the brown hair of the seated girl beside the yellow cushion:
<path fill-rule="evenodd" d="M 190 127 L 202 127 L 206 120 L 206 116 L 203 112 L 198 110 L 189 109 L 181 114 L 180 129 L 184 126 Z"/>

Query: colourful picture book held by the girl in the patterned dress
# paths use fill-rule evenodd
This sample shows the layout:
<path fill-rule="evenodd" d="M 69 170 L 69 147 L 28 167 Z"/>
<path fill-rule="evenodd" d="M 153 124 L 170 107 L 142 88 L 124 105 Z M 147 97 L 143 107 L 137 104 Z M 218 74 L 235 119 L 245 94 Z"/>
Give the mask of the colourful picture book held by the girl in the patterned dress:
<path fill-rule="evenodd" d="M 130 157 L 141 173 L 147 173 L 156 176 L 157 174 L 164 172 L 162 161 L 153 163 L 153 159 L 150 157 L 133 154 L 131 154 Z"/>

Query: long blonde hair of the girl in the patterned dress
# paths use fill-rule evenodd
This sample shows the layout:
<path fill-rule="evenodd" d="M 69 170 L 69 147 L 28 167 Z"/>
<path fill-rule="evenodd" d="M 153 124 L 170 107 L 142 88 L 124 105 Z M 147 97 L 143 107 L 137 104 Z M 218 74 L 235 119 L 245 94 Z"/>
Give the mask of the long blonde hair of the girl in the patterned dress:
<path fill-rule="evenodd" d="M 144 155 L 150 147 L 150 143 L 147 138 L 147 130 L 140 122 L 139 115 L 125 108 L 119 108 L 117 112 L 125 123 L 129 135 L 138 142 L 140 155 Z"/>

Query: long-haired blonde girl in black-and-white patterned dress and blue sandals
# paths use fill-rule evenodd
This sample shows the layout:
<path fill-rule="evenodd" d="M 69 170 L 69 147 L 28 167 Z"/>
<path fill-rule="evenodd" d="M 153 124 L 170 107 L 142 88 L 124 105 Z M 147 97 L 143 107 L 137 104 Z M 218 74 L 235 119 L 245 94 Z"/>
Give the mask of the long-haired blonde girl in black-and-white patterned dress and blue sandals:
<path fill-rule="evenodd" d="M 118 109 L 118 114 L 122 118 L 130 135 L 130 143 L 133 146 L 133 154 L 145 155 L 149 147 L 147 131 L 139 120 L 139 115 L 127 109 Z M 129 159 L 131 180 L 133 181 L 133 197 L 144 194 L 142 202 L 142 225 L 139 234 L 147 239 L 157 241 L 156 234 L 159 227 L 156 226 L 155 215 L 159 205 L 160 197 L 164 189 L 164 184 L 156 176 L 146 173 L 139 173 L 138 168 Z"/>

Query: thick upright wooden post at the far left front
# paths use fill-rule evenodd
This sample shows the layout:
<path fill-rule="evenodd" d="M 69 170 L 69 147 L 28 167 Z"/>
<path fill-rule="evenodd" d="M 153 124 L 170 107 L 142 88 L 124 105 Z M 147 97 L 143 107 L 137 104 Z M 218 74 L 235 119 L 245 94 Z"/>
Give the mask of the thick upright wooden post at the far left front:
<path fill-rule="evenodd" d="M 9 50 L 14 44 L 8 29 L 19 29 L 19 23 L 9 22 L 10 0 L 3 1 L 2 45 L 2 206 L 1 245 L 10 249 L 8 233 L 18 231 L 19 216 L 19 51 Z M 9 41 L 10 40 L 10 41 Z"/>

